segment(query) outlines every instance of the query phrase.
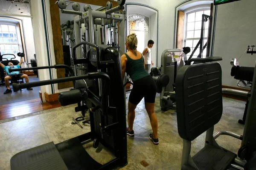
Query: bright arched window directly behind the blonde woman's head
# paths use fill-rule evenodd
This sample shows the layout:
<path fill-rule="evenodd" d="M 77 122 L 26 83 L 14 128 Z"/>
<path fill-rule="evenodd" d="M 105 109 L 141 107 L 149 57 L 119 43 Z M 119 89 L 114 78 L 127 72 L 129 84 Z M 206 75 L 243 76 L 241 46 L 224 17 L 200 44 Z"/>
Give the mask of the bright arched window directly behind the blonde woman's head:
<path fill-rule="evenodd" d="M 143 52 L 148 42 L 149 18 L 140 14 L 129 14 L 129 34 L 135 33 L 138 39 L 137 51 Z"/>

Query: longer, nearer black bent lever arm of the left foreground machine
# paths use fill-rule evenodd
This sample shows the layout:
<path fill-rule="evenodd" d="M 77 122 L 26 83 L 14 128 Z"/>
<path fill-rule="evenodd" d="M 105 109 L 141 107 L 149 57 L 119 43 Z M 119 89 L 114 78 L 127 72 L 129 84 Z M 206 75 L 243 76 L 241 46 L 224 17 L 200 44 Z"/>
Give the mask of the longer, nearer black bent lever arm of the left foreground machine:
<path fill-rule="evenodd" d="M 93 72 L 93 73 L 88 73 L 85 75 L 81 76 L 74 76 L 74 77 L 64 77 L 64 78 L 59 78 L 59 79 L 51 79 L 51 80 L 43 80 L 39 82 L 29 82 L 29 83 L 22 83 L 22 84 L 17 84 L 13 83 L 13 91 L 18 91 L 22 88 L 29 88 L 29 87 L 37 87 L 37 86 L 42 86 L 42 85 L 51 85 L 51 84 L 56 84 L 59 82 L 70 82 L 74 80 L 79 80 L 79 79 L 105 79 L 106 80 L 106 86 L 109 87 L 110 85 L 110 78 L 108 74 L 105 74 L 103 72 Z"/>

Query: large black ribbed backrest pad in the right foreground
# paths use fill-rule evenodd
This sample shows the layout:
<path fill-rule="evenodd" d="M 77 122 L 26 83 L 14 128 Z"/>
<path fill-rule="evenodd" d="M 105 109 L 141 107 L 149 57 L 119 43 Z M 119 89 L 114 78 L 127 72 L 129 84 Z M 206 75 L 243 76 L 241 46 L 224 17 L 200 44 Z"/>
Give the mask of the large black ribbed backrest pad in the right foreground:
<path fill-rule="evenodd" d="M 192 141 L 221 119 L 221 66 L 218 62 L 183 66 L 175 85 L 178 131 L 181 138 Z"/>

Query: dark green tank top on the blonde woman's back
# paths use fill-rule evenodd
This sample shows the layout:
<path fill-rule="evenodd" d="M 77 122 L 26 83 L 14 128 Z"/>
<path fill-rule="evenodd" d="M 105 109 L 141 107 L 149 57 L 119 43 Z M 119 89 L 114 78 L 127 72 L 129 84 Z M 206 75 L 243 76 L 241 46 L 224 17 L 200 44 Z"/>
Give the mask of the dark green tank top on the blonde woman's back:
<path fill-rule="evenodd" d="M 126 53 L 125 56 L 127 58 L 126 73 L 129 74 L 133 82 L 143 77 L 149 76 L 144 67 L 144 57 L 142 54 L 140 59 L 131 59 Z"/>

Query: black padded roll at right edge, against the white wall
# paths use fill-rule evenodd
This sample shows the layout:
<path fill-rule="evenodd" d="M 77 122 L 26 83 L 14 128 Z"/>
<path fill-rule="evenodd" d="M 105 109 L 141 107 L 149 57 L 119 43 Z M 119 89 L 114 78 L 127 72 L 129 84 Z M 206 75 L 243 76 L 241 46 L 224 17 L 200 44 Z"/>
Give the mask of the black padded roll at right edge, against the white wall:
<path fill-rule="evenodd" d="M 233 66 L 231 76 L 238 80 L 253 81 L 254 67 Z"/>

